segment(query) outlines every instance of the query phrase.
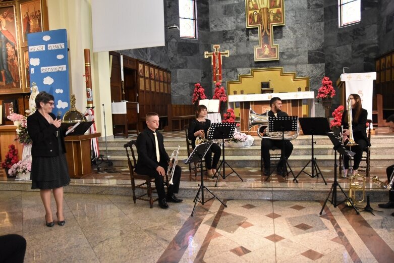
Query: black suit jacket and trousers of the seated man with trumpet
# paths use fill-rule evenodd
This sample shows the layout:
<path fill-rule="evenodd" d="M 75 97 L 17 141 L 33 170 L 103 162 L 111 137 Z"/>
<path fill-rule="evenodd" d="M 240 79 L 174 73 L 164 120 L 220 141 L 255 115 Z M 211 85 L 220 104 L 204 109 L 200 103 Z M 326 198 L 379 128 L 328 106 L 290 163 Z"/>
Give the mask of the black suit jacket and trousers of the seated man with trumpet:
<path fill-rule="evenodd" d="M 160 162 L 157 162 L 156 158 L 156 147 L 153 131 L 147 128 L 137 137 L 138 161 L 135 167 L 135 172 L 137 174 L 146 174 L 154 178 L 154 184 L 156 186 L 158 197 L 159 199 L 163 199 L 165 198 L 164 179 L 163 176 L 159 175 L 159 173 L 156 171 L 156 168 L 161 166 L 166 172 L 170 157 L 168 157 L 168 154 L 164 149 L 163 135 L 156 131 L 156 136 L 159 145 Z M 181 167 L 177 165 L 175 167 L 173 178 L 174 184 L 168 186 L 167 195 L 171 196 L 174 193 L 178 193 L 181 172 Z M 168 180 L 170 180 L 170 178 L 168 178 Z"/>

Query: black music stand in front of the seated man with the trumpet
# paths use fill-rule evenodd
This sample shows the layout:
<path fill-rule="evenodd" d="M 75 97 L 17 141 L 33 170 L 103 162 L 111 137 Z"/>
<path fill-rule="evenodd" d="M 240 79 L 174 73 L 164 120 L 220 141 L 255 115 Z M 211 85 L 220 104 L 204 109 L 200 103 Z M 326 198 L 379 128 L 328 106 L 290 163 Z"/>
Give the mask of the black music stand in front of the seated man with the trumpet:
<path fill-rule="evenodd" d="M 202 159 L 204 158 L 206 152 L 209 150 L 209 148 L 212 145 L 212 141 L 208 141 L 208 142 L 204 142 L 204 143 L 200 143 L 198 145 L 196 145 L 196 147 L 193 149 L 192 153 L 190 153 L 190 156 L 187 160 L 185 160 L 185 164 L 190 164 L 192 162 L 200 162 L 200 167 L 201 167 L 201 184 L 199 185 L 200 187 L 198 188 L 196 197 L 194 197 L 194 207 L 193 207 L 193 211 L 192 211 L 192 217 L 194 214 L 194 209 L 196 209 L 196 205 L 197 202 L 200 202 L 201 204 L 204 205 L 204 203 L 208 202 L 209 200 L 216 198 L 217 200 L 219 200 L 219 202 L 221 202 L 224 207 L 227 207 L 226 204 L 224 204 L 215 194 L 213 194 L 211 192 L 211 190 L 208 189 L 208 187 L 204 186 L 204 176 L 202 174 Z M 204 188 L 211 193 L 211 195 L 213 195 L 213 197 L 209 198 L 208 200 L 204 200 Z M 201 199 L 200 199 L 200 192 L 201 192 Z"/>

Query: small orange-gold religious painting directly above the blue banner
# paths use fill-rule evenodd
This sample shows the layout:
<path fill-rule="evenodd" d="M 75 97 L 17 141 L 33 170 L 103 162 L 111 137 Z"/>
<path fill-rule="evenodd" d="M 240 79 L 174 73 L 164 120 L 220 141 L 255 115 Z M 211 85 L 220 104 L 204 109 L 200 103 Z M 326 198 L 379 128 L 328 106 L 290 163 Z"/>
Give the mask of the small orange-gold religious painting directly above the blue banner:
<path fill-rule="evenodd" d="M 20 2 L 20 23 L 22 27 L 22 46 L 27 45 L 27 34 L 42 32 L 42 9 L 40 0 Z"/>

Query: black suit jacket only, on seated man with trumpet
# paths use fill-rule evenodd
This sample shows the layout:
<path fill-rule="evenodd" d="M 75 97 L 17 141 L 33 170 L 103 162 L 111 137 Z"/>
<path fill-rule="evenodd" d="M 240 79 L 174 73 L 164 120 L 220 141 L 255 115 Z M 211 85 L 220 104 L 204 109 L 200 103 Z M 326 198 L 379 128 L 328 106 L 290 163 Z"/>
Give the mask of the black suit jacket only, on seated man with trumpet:
<path fill-rule="evenodd" d="M 156 131 L 157 141 L 159 143 L 160 162 L 157 162 L 156 147 L 154 144 L 153 131 L 149 128 L 141 132 L 137 137 L 138 160 L 135 167 L 136 173 L 144 174 L 146 169 L 156 170 L 158 166 L 167 167 L 170 157 L 164 149 L 163 135 Z"/>

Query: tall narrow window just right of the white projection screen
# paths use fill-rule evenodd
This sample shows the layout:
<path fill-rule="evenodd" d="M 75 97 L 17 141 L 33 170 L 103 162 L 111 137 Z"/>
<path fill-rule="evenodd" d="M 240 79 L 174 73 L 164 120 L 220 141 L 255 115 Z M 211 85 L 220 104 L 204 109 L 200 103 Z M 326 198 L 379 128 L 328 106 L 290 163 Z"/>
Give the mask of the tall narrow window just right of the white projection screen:
<path fill-rule="evenodd" d="M 195 0 L 179 0 L 179 29 L 181 37 L 197 38 Z"/>

